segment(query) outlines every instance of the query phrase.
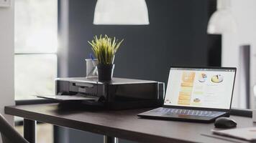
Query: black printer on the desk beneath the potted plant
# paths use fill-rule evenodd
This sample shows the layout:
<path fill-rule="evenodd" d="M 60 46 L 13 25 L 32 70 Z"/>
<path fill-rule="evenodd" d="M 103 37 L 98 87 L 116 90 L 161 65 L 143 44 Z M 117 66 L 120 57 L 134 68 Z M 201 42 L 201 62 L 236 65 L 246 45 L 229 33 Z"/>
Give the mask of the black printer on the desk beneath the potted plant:
<path fill-rule="evenodd" d="M 132 109 L 157 107 L 163 104 L 165 84 L 139 79 L 113 78 L 111 82 L 99 82 L 98 78 L 58 78 L 56 94 L 82 96 L 82 104 L 107 109 Z"/>

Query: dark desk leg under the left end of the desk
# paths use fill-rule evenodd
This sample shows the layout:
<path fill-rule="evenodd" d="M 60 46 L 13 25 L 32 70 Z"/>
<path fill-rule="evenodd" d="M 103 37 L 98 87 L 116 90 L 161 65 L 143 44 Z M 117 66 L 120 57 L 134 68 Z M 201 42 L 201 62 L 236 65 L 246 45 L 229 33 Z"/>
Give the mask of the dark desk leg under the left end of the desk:
<path fill-rule="evenodd" d="M 36 121 L 30 120 L 30 119 L 24 119 L 24 138 L 27 139 L 29 143 L 37 142 L 36 126 L 37 126 Z"/>

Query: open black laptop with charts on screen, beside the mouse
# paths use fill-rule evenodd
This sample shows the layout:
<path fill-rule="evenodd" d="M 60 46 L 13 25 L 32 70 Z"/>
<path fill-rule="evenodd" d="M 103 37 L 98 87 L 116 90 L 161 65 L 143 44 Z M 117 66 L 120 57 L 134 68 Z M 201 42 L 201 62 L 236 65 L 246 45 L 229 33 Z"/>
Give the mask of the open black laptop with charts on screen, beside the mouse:
<path fill-rule="evenodd" d="M 138 117 L 214 122 L 229 117 L 236 68 L 171 67 L 163 107 Z"/>

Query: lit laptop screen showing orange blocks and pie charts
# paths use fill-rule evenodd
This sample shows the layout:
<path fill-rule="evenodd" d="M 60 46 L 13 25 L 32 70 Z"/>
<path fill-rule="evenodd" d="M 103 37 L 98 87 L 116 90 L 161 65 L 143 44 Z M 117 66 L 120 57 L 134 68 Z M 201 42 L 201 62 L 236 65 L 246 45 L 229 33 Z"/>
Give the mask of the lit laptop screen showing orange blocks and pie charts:
<path fill-rule="evenodd" d="M 164 105 L 230 109 L 235 69 L 170 68 Z"/>

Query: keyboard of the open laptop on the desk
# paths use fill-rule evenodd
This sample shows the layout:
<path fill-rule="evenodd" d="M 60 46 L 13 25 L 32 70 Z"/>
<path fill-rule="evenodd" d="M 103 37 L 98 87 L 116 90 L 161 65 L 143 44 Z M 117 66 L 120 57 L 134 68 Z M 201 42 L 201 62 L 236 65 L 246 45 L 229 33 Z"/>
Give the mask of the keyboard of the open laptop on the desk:
<path fill-rule="evenodd" d="M 157 108 L 152 110 L 152 112 L 159 112 L 163 114 L 184 114 L 191 116 L 201 116 L 201 117 L 217 117 L 224 112 L 213 112 L 213 111 L 205 111 L 205 110 L 193 110 L 193 109 L 172 109 L 172 108 Z"/>

